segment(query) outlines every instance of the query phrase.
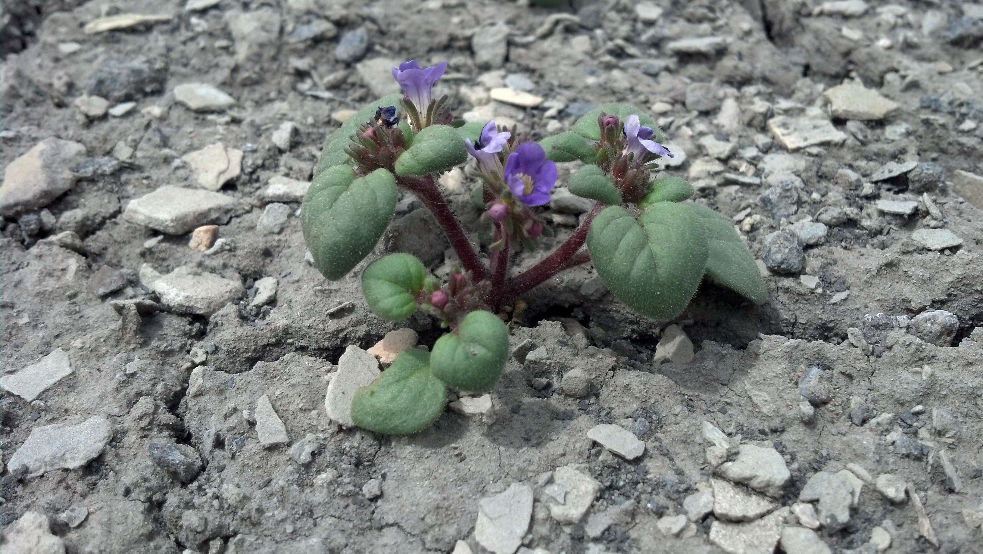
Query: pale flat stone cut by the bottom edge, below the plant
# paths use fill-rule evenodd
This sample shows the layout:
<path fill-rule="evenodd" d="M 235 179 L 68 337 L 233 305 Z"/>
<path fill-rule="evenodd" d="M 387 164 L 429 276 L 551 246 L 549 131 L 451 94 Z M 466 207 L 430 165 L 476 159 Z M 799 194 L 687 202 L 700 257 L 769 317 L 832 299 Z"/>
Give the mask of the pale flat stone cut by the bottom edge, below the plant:
<path fill-rule="evenodd" d="M 512 483 L 504 491 L 479 501 L 475 539 L 495 554 L 513 554 L 522 545 L 532 517 L 532 487 Z"/>

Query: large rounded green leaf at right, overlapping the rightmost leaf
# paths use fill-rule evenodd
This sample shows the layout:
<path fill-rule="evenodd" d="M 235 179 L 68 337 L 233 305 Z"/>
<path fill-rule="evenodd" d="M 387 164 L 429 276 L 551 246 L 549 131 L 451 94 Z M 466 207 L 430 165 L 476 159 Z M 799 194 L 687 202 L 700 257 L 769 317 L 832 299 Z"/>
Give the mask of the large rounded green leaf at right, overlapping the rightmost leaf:
<path fill-rule="evenodd" d="M 688 205 L 657 202 L 635 219 L 610 206 L 587 234 L 594 266 L 614 296 L 655 319 L 678 315 L 700 286 L 709 249 Z"/>

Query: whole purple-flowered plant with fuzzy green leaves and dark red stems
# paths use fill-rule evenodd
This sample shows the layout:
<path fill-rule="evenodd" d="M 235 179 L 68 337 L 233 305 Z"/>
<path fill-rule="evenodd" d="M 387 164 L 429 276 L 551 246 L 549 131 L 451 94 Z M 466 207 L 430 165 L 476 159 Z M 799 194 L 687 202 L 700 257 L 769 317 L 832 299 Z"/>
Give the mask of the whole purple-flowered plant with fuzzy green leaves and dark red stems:
<path fill-rule="evenodd" d="M 417 310 L 433 314 L 447 333 L 430 353 L 401 353 L 372 384 L 355 394 L 352 418 L 386 434 L 425 428 L 443 411 L 446 387 L 481 393 L 498 382 L 508 357 L 508 328 L 497 315 L 560 271 L 592 262 L 607 288 L 626 305 L 671 319 L 689 304 L 704 278 L 755 303 L 765 300 L 754 259 L 730 223 L 685 201 L 690 185 L 654 177 L 663 133 L 626 104 L 606 104 L 570 131 L 533 141 L 494 122 L 454 119 L 447 96 L 432 97 L 447 64 L 416 61 L 393 68 L 403 94 L 379 98 L 324 142 L 304 200 L 304 238 L 318 270 L 340 279 L 373 249 L 392 221 L 399 189 L 429 208 L 459 260 L 439 280 L 408 253 L 391 253 L 362 273 L 369 306 L 385 319 Z M 468 239 L 437 187 L 436 177 L 475 158 L 484 183 L 474 192 L 493 228 L 489 263 Z M 511 254 L 534 249 L 549 227 L 537 206 L 549 202 L 556 163 L 585 165 L 567 183 L 595 200 L 579 227 L 539 263 L 509 272 Z"/>

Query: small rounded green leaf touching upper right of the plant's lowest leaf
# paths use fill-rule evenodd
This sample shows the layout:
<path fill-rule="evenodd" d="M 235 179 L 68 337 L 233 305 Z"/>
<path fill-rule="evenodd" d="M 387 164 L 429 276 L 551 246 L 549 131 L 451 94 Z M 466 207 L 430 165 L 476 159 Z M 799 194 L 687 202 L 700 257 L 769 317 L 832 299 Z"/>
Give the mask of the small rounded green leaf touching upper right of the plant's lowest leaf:
<path fill-rule="evenodd" d="M 467 392 L 492 390 L 508 360 L 508 327 L 490 311 L 472 311 L 456 333 L 437 339 L 431 355 L 434 377 Z"/>

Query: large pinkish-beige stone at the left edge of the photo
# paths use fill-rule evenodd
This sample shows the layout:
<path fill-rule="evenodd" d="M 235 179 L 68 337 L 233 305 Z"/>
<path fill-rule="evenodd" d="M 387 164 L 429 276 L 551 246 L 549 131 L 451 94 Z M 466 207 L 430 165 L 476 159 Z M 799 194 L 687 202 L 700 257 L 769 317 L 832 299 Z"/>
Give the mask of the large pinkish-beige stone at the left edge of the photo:
<path fill-rule="evenodd" d="M 44 139 L 7 164 L 0 186 L 0 215 L 12 217 L 44 207 L 75 187 L 69 170 L 86 155 L 86 146 L 62 139 Z"/>

